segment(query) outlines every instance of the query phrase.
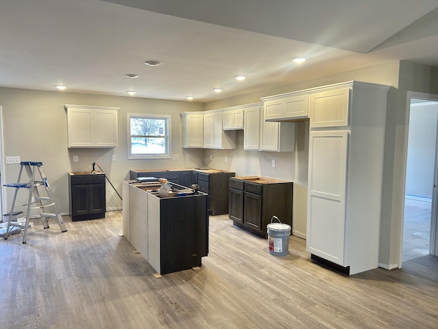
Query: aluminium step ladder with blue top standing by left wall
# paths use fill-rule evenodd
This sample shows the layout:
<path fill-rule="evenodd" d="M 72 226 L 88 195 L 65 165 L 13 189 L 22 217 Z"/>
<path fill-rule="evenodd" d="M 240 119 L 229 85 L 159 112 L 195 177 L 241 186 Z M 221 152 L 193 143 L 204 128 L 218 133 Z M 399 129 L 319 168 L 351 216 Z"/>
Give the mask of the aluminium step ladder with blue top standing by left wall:
<path fill-rule="evenodd" d="M 16 183 L 4 185 L 15 188 L 14 199 L 12 199 L 11 211 L 5 214 L 5 216 L 10 217 L 8 221 L 8 228 L 6 229 L 5 240 L 8 239 L 10 227 L 18 227 L 21 228 L 21 231 L 23 232 L 23 243 L 26 243 L 27 229 L 29 228 L 29 218 L 31 218 L 32 209 L 38 209 L 38 217 L 44 219 L 44 229 L 49 228 L 49 219 L 54 218 L 60 226 L 61 231 L 66 232 L 66 226 L 64 225 L 62 215 L 52 195 L 52 189 L 49 185 L 49 181 L 47 180 L 46 173 L 44 173 L 44 169 L 42 168 L 42 162 L 22 161 L 20 162 L 20 164 L 21 167 L 18 173 L 18 179 Z M 27 182 L 21 182 L 21 174 L 23 173 L 23 168 L 27 173 Z M 37 173 L 39 173 L 39 178 L 38 175 L 36 175 Z M 44 186 L 44 188 L 42 188 L 42 186 Z M 25 221 L 18 221 L 16 220 L 16 217 L 23 212 L 17 211 L 15 209 L 17 206 L 19 206 L 16 205 L 16 197 L 18 191 L 21 191 L 23 189 L 27 189 L 29 191 L 27 204 L 21 205 L 26 206 L 26 217 Z M 43 190 L 45 192 L 43 192 Z M 42 195 L 40 195 L 40 192 Z"/>

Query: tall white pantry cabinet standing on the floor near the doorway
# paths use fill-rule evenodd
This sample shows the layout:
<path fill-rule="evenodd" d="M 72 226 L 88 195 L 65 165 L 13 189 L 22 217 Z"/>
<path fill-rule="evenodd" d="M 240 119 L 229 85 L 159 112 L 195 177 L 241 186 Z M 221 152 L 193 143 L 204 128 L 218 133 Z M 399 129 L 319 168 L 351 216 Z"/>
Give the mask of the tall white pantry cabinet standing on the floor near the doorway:
<path fill-rule="evenodd" d="M 346 82 L 310 94 L 307 251 L 350 275 L 378 267 L 388 90 Z"/>

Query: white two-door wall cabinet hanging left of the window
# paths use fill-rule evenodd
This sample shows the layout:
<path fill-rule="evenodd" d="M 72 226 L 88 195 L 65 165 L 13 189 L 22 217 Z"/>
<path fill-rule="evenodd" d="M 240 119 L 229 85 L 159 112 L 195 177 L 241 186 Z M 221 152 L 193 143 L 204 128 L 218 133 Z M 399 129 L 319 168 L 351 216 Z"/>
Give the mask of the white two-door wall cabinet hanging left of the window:
<path fill-rule="evenodd" d="M 66 104 L 68 147 L 117 147 L 119 108 Z"/>

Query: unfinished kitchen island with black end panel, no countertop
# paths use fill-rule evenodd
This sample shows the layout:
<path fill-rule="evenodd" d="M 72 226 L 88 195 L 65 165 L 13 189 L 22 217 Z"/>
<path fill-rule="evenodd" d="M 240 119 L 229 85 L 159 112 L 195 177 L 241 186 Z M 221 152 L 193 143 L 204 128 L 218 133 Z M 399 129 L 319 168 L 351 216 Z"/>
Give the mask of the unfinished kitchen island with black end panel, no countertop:
<path fill-rule="evenodd" d="M 160 197 L 159 182 L 123 182 L 123 235 L 159 274 L 200 267 L 208 254 L 208 195 L 169 184 L 175 192 Z"/>

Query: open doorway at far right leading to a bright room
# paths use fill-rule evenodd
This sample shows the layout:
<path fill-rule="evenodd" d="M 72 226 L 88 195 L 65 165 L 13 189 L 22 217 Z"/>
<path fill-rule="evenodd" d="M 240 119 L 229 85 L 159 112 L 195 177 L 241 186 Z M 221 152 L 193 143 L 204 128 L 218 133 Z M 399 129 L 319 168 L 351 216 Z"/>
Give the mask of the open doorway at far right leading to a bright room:
<path fill-rule="evenodd" d="M 436 254 L 438 95 L 410 95 L 402 262 Z"/>

